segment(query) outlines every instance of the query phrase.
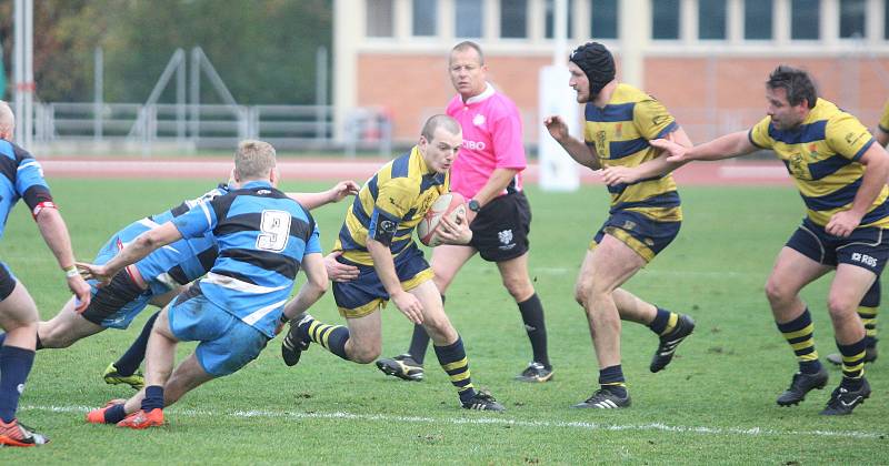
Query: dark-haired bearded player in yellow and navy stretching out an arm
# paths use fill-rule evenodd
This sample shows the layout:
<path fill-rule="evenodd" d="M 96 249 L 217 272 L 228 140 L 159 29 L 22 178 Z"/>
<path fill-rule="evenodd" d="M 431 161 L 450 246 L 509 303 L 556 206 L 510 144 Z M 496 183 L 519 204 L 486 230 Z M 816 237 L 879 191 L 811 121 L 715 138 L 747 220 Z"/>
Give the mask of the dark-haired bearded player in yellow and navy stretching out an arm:
<path fill-rule="evenodd" d="M 785 162 L 807 215 L 778 254 L 766 283 L 775 321 L 799 363 L 778 404 L 798 404 L 809 391 L 827 384 L 809 310 L 799 292 L 836 270 L 828 311 L 842 355 L 842 382 L 821 414 L 850 414 L 870 396 L 865 326 L 856 310 L 889 259 L 889 154 L 855 116 L 819 99 L 806 71 L 776 68 L 766 82 L 766 100 L 768 116 L 749 131 L 691 149 L 670 141 L 651 143 L 669 152 L 668 162 L 728 159 L 758 149 L 771 149 Z"/>

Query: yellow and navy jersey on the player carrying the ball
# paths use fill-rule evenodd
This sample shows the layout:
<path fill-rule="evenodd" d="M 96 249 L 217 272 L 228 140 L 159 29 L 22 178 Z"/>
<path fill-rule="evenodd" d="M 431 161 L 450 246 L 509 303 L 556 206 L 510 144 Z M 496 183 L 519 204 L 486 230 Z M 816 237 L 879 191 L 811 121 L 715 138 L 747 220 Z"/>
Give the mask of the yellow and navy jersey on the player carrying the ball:
<path fill-rule="evenodd" d="M 371 237 L 397 256 L 413 243 L 413 229 L 429 206 L 450 186 L 449 173 L 431 172 L 417 146 L 383 165 L 368 180 L 346 213 L 334 250 L 342 259 L 373 265 L 367 249 Z"/>

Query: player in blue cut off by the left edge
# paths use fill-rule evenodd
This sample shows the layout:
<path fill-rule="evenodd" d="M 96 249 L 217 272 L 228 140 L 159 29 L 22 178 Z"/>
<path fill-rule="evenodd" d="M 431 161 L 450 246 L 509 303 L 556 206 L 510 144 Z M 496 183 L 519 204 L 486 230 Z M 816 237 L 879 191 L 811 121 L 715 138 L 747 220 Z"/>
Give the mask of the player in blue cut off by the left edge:
<path fill-rule="evenodd" d="M 40 234 L 56 256 L 79 300 L 79 311 L 90 304 L 90 287 L 74 269 L 74 255 L 64 220 L 56 210 L 40 164 L 28 151 L 12 143 L 16 119 L 0 101 L 0 235 L 10 211 L 23 200 Z M 0 347 L 0 446 L 34 446 L 48 442 L 16 418 L 19 397 L 34 361 L 37 322 L 40 316 L 24 285 L 0 262 L 0 327 L 7 333 Z"/>

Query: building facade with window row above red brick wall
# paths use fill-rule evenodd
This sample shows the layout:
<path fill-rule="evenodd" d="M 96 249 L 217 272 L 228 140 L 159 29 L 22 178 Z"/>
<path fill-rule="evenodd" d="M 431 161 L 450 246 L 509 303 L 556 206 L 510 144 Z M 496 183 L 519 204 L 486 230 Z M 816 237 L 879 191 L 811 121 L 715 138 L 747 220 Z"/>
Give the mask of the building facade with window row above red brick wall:
<path fill-rule="evenodd" d="M 779 63 L 872 126 L 889 99 L 889 0 L 567 0 L 568 47 L 603 42 L 619 78 L 660 99 L 693 141 L 749 126 Z M 477 41 L 533 145 L 538 74 L 553 62 L 556 0 L 334 0 L 333 102 L 377 107 L 399 143 L 453 94 L 450 48 Z M 622 63 L 621 63 L 622 62 Z M 566 85 L 568 83 L 566 82 Z"/>

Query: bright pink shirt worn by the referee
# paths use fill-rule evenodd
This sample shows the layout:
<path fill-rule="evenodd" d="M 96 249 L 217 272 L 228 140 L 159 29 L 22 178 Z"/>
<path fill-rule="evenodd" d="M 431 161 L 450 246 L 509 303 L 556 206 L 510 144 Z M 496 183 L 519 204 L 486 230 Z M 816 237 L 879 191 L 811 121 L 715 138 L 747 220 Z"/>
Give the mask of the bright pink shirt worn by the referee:
<path fill-rule="evenodd" d="M 459 121 L 463 130 L 463 146 L 451 166 L 451 191 L 472 199 L 495 169 L 519 170 L 512 184 L 516 191 L 521 191 L 521 170 L 528 161 L 516 104 L 488 83 L 485 92 L 466 103 L 457 94 L 448 104 L 447 113 Z"/>

